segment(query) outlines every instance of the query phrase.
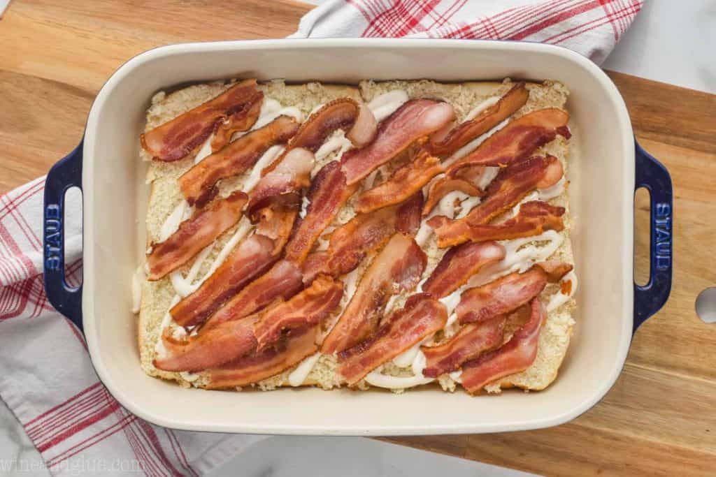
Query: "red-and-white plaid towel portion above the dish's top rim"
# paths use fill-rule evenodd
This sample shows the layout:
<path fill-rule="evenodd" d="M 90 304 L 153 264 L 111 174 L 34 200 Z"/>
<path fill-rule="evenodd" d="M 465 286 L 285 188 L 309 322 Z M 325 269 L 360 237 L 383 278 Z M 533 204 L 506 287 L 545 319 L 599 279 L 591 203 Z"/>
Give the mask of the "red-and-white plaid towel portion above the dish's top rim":
<path fill-rule="evenodd" d="M 327 0 L 289 38 L 382 36 L 538 41 L 596 64 L 609 55 L 643 0 Z"/>

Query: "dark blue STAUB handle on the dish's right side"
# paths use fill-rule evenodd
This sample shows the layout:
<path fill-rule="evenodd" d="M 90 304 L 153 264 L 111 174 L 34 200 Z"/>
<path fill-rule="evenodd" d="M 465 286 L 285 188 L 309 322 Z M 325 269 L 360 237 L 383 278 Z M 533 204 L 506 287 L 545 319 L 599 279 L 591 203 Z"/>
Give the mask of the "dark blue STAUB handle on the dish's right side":
<path fill-rule="evenodd" d="M 661 162 L 636 145 L 636 180 L 634 190 L 645 187 L 651 201 L 649 232 L 649 282 L 634 283 L 634 331 L 650 316 L 657 313 L 671 292 L 674 265 L 674 203 L 671 176 Z"/>

